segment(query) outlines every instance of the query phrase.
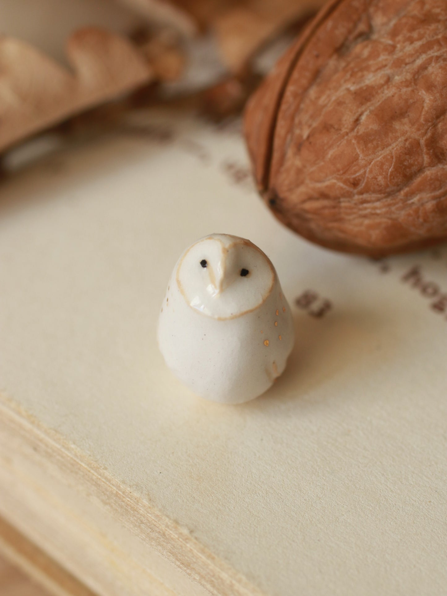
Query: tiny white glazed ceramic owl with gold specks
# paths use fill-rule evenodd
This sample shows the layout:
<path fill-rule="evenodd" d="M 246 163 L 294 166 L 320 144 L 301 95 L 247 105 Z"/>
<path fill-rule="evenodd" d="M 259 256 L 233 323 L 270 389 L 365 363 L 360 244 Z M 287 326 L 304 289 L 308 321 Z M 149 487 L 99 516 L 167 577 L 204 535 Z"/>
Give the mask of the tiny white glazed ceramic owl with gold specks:
<path fill-rule="evenodd" d="M 294 343 L 271 261 L 244 238 L 198 240 L 172 272 L 158 340 L 167 366 L 197 395 L 241 403 L 265 392 Z"/>

